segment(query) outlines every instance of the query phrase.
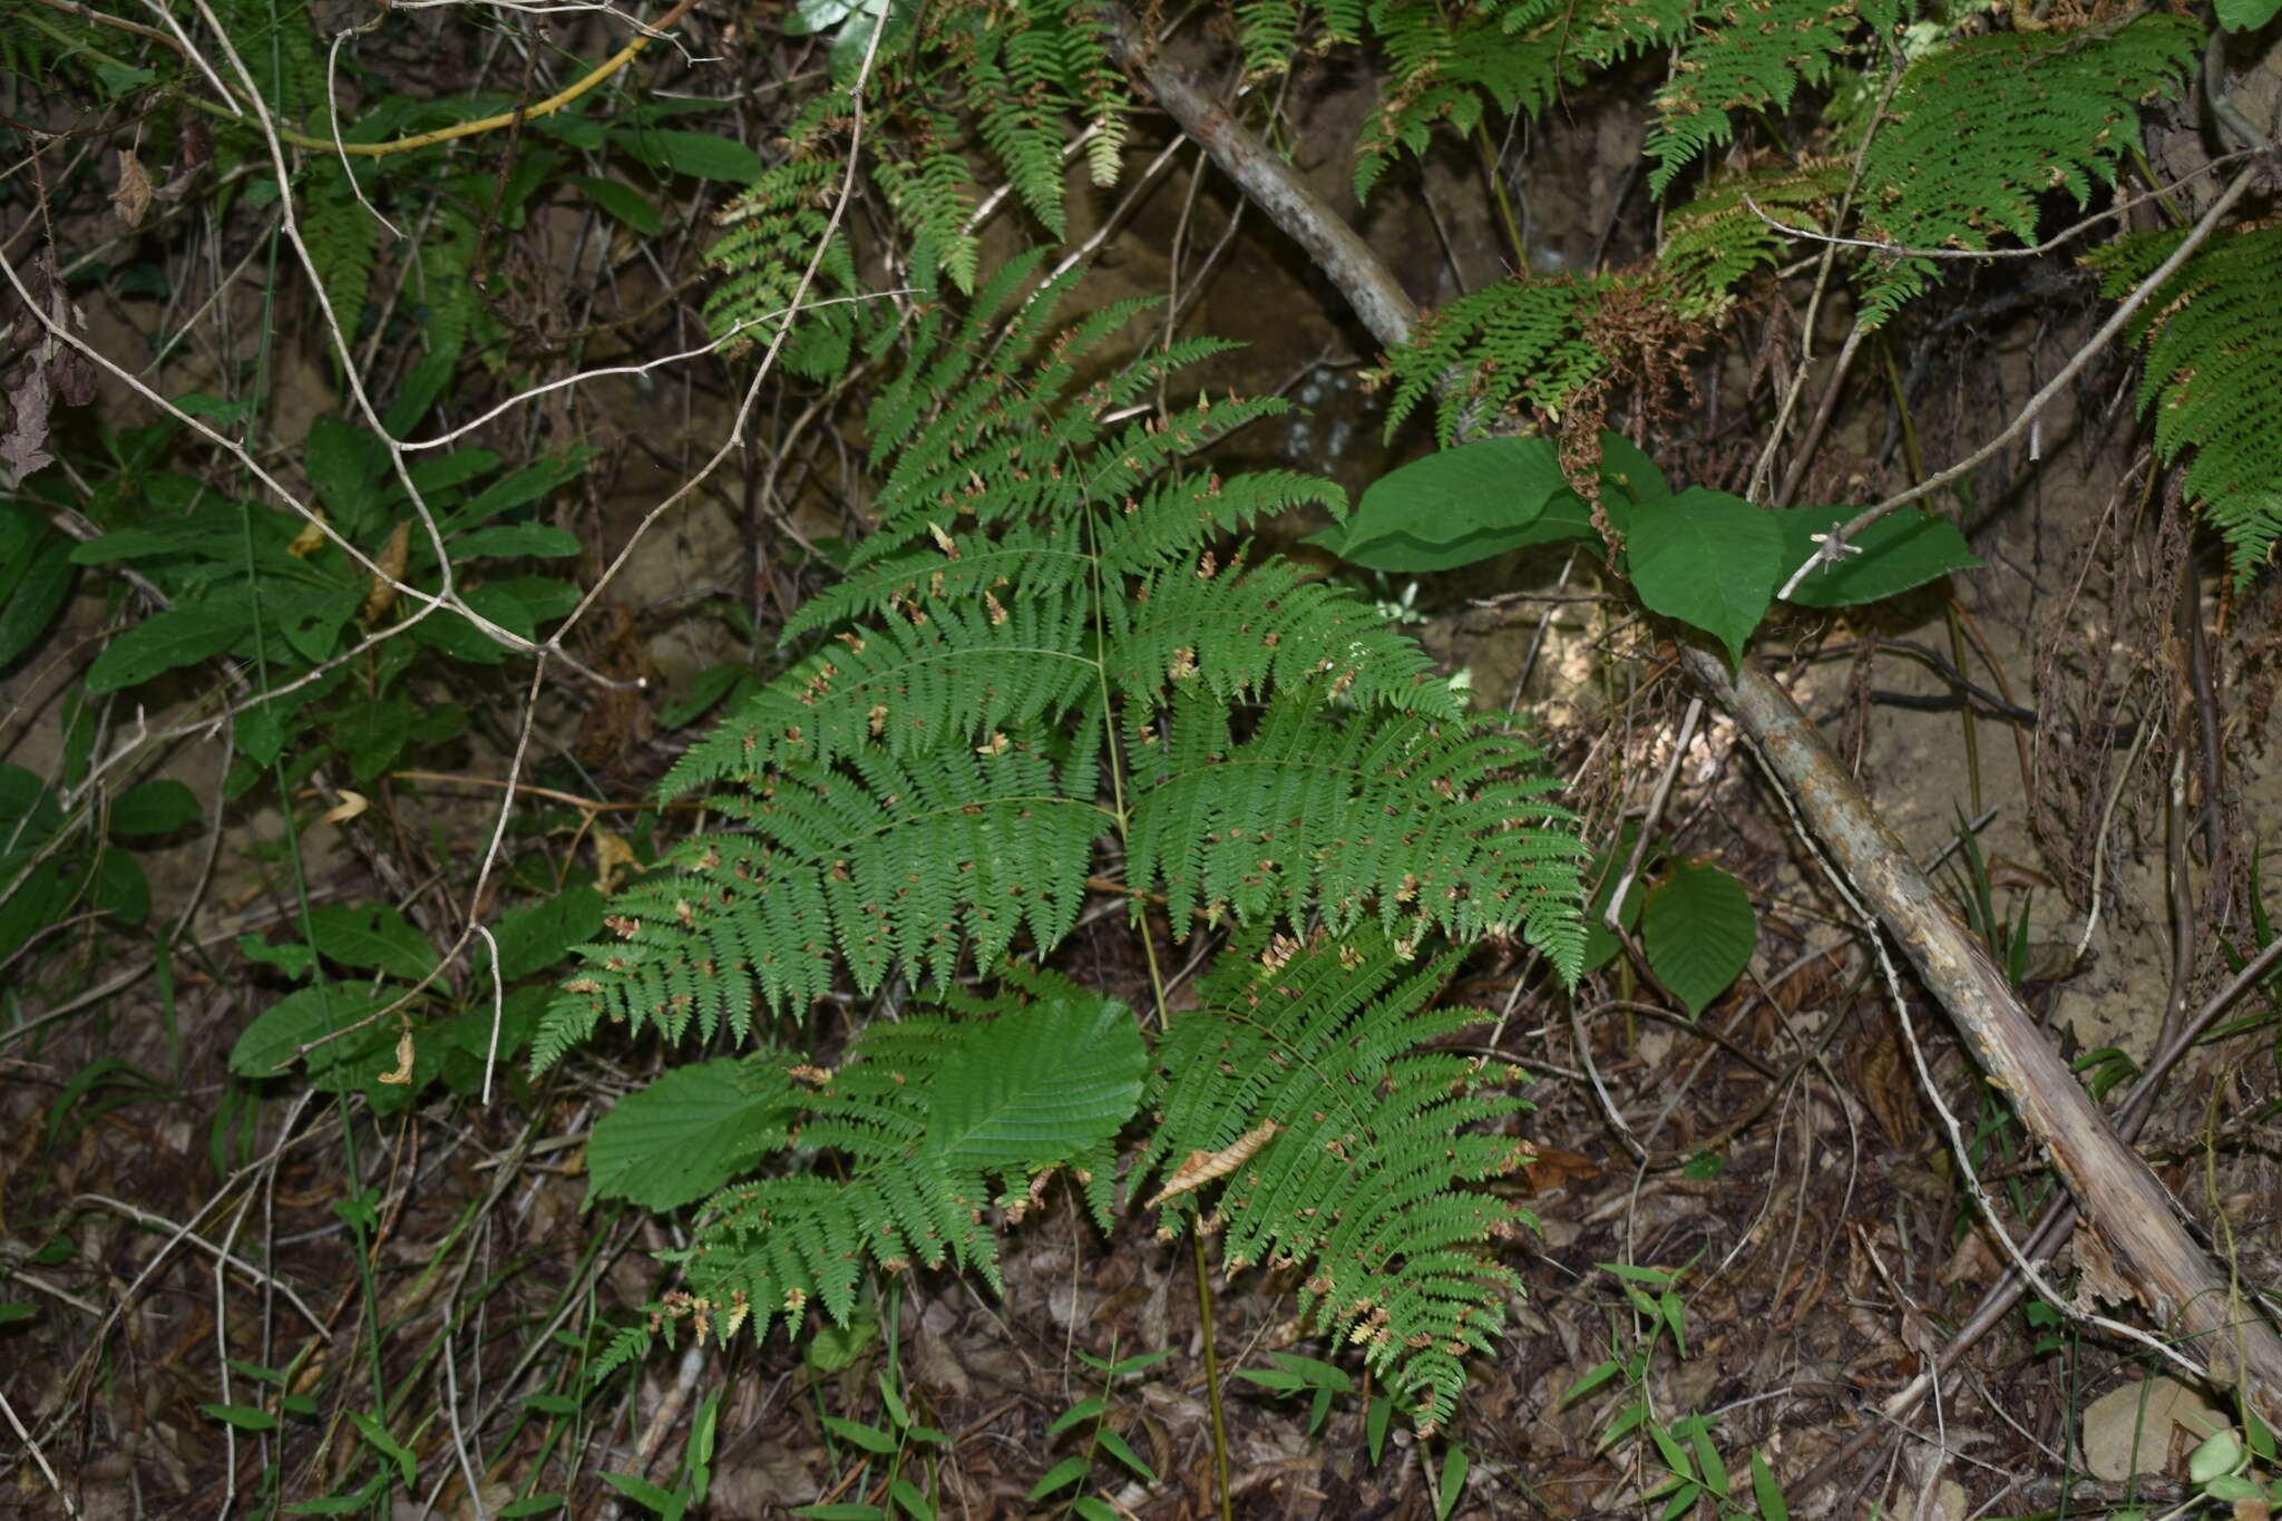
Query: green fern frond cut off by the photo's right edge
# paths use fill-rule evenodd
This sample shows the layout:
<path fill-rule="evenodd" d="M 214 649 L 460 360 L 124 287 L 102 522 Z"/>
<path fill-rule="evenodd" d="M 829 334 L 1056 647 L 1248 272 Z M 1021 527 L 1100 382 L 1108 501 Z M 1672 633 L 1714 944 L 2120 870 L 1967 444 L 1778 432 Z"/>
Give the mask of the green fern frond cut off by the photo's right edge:
<path fill-rule="evenodd" d="M 2179 246 L 2182 233 L 2136 233 L 2086 262 L 2118 299 Z M 2147 349 L 2141 410 L 2166 463 L 2195 452 L 2184 488 L 2227 540 L 2236 588 L 2282 538 L 2282 228 L 2218 233 L 2131 324 Z"/>

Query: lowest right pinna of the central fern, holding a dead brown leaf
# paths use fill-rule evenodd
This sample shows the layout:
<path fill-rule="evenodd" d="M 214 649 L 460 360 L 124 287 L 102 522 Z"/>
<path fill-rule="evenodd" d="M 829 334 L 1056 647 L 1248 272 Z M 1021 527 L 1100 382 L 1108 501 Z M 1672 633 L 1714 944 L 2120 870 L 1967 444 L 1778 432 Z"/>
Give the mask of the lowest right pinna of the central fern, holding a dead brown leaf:
<path fill-rule="evenodd" d="M 1248 1149 L 1214 1204 L 1230 1268 L 1301 1268 L 1301 1313 L 1360 1343 L 1424 1430 L 1449 1418 L 1463 1355 L 1490 1343 L 1518 1286 L 1488 1245 L 1534 1225 L 1463 1188 L 1524 1158 L 1479 1126 L 1527 1104 L 1431 1049 L 1479 1022 L 1426 1008 L 1454 960 L 1410 969 L 1371 928 L 1230 953 L 1157 1047 L 1143 1101 L 1162 1122 L 1134 1165 L 1136 1188 L 1171 1193 L 1182 1158 Z M 1166 1213 L 1193 1215 L 1196 1199 L 1173 1193 Z"/>

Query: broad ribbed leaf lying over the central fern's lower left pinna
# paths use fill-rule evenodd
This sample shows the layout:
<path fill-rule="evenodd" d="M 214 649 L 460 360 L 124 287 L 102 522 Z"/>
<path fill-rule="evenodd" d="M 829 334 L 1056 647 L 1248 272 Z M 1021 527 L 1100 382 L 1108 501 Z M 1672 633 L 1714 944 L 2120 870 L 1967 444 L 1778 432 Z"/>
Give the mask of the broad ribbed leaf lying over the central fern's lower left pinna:
<path fill-rule="evenodd" d="M 1141 1101 L 1148 1047 L 1132 1010 L 1041 999 L 1000 1015 L 936 1076 L 922 1152 L 981 1168 L 1061 1161 L 1116 1136 Z"/>

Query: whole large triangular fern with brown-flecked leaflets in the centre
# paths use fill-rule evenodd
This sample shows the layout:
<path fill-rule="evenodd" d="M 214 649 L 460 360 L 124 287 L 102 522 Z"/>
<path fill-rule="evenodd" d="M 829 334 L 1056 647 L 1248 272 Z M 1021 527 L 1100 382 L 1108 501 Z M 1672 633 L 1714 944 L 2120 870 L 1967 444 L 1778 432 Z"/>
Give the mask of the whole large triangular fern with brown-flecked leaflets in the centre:
<path fill-rule="evenodd" d="M 977 1211 L 1022 1197 L 988 1193 L 990 1168 L 1075 1168 L 1107 1211 L 1114 1170 L 1098 1147 L 1132 1117 L 1132 1097 L 1107 1133 L 1091 1129 L 1100 1111 L 1089 1111 L 1086 1126 L 1043 1124 L 1027 1149 L 958 1152 L 965 1172 L 931 1161 L 931 1147 L 945 1092 L 958 1090 L 942 1069 L 970 1069 L 958 1063 L 979 1060 L 977 1042 L 1068 1040 L 1009 1033 L 1011 1019 L 1041 1017 L 1036 985 L 1027 1001 L 977 1003 L 963 981 L 1013 976 L 1004 958 L 1050 953 L 1091 882 L 1118 869 L 1136 926 L 1157 896 L 1178 937 L 1196 921 L 1280 924 L 1328 937 L 1310 951 L 1330 958 L 1324 965 L 1353 955 L 1376 967 L 1429 935 L 1465 944 L 1515 933 L 1565 978 L 1581 955 L 1579 846 L 1531 746 L 1467 714 L 1358 597 L 1230 545 L 1253 520 L 1298 504 L 1344 511 L 1340 490 L 1314 477 L 1191 465 L 1221 431 L 1285 404 L 1200 395 L 1157 410 L 1150 399 L 1171 372 L 1216 353 L 1214 342 L 1180 342 L 1084 383 L 1086 356 L 1146 303 L 1104 308 L 1047 340 L 1070 278 L 1015 301 L 1036 262 L 1002 269 L 965 319 L 940 308 L 920 317 L 901 379 L 869 415 L 879 527 L 849 556 L 847 579 L 785 632 L 810 652 L 662 784 L 712 789 L 730 828 L 682 841 L 616 896 L 616 940 L 582 949 L 584 967 L 536 1038 L 539 1065 L 602 1019 L 666 1038 L 746 1038 L 758 1012 L 796 1015 L 842 976 L 860 992 L 901 976 L 936 999 L 965 999 L 956 1019 L 863 1035 L 856 1060 L 817 1095 L 799 1145 L 837 1149 L 844 1186 L 776 1179 L 714 1197 L 687 1256 L 696 1298 L 682 1309 L 696 1316 L 767 1325 L 822 1300 L 844 1318 L 860 1259 L 988 1275 L 995 1259 Z M 1038 358 L 1025 358 L 1034 347 Z M 1360 1012 L 1351 994 L 1374 999 L 1385 981 L 1374 976 L 1358 971 L 1346 992 L 1328 974 L 1314 978 L 1305 1008 L 1292 1010 L 1328 1019 L 1321 1031 L 1351 1031 L 1294 1047 L 1349 1099 L 1349 1088 L 1371 1090 L 1397 1069 L 1385 1065 L 1392 1054 L 1442 1028 L 1415 1012 L 1433 978 L 1406 983 L 1417 997 Z M 1068 1003 L 1057 999 L 1047 1006 Z M 1180 1044 L 1193 1015 L 1159 1008 L 1157 1019 L 1173 1033 L 1155 1092 L 1196 1117 L 1171 1131 L 1178 1140 L 1159 1133 L 1152 1145 L 1219 1136 L 1239 1111 L 1246 1129 L 1287 1126 L 1294 1136 L 1267 1156 L 1308 1163 L 1319 1193 L 1303 1209 L 1324 1211 L 1328 1229 L 1349 1206 L 1310 1147 L 1353 1156 L 1358 1136 L 1385 1117 L 1358 1111 L 1344 1140 L 1303 1140 L 1308 1117 L 1330 1113 L 1321 1095 L 1264 1090 L 1260 1115 L 1193 1097 L 1187 1081 L 1221 1081 L 1216 1058 Z M 1098 1044 L 1098 1024 L 1084 1028 Z M 1326 1318 L 1367 1325 L 1369 1355 L 1390 1377 L 1401 1370 L 1397 1384 L 1429 1421 L 1447 1414 L 1456 1355 L 1495 1325 L 1504 1288 L 1479 1256 L 1502 1215 L 1449 1193 L 1479 1177 L 1454 1161 L 1474 1156 L 1456 1126 L 1488 1113 L 1424 1104 L 1399 1131 L 1415 1152 L 1406 1165 L 1440 1179 L 1385 1193 L 1394 1215 L 1374 1227 L 1374 1261 L 1397 1263 L 1387 1272 L 1403 1284 L 1353 1279 L 1324 1256 L 1333 1238 L 1310 1236 L 1298 1215 L 1260 1238 L 1273 1252 L 1251 1254 L 1324 1256 L 1326 1282 L 1340 1284 L 1312 1291 Z M 819 1129 L 826 1117 L 837 1129 Z M 1433 1124 L 1429 1145 L 1417 1126 Z"/>

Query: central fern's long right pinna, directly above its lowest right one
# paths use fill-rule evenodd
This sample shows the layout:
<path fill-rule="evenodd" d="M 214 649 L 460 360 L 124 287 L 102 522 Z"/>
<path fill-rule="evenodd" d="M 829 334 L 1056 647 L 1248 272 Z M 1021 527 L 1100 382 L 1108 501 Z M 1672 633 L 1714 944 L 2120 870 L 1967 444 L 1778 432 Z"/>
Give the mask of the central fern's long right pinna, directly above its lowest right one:
<path fill-rule="evenodd" d="M 1570 978 L 1581 846 L 1538 764 L 1490 721 L 1337 721 L 1298 698 L 1237 739 L 1221 702 L 1180 691 L 1132 746 L 1127 887 L 1162 889 L 1175 935 L 1198 912 L 1298 926 L 1310 910 L 1335 933 L 1520 930 Z"/>

